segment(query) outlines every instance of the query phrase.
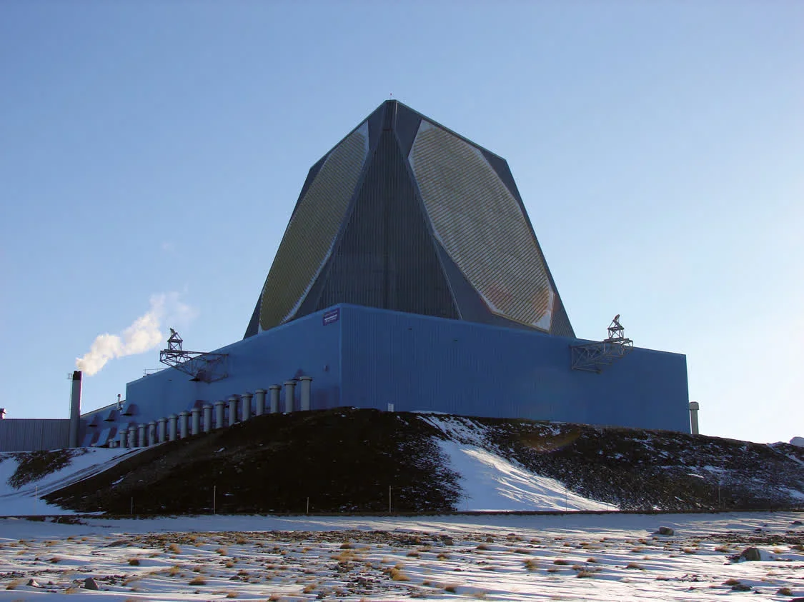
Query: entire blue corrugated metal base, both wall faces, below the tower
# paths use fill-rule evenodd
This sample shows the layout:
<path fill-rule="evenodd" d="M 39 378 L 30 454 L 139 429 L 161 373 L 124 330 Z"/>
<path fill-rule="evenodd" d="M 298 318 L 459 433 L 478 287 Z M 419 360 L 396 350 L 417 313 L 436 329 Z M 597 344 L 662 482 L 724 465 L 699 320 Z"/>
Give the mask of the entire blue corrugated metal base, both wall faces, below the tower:
<path fill-rule="evenodd" d="M 356 305 L 338 310 L 327 326 L 330 310 L 217 350 L 228 354 L 230 376 L 216 383 L 194 383 L 174 369 L 129 383 L 127 403 L 138 412 L 119 424 L 310 375 L 313 409 L 393 403 L 397 411 L 689 432 L 681 354 L 637 348 L 598 375 L 571 370 L 577 339 Z M 98 428 L 117 426 L 106 417 Z M 92 412 L 82 418 L 91 421 Z"/>

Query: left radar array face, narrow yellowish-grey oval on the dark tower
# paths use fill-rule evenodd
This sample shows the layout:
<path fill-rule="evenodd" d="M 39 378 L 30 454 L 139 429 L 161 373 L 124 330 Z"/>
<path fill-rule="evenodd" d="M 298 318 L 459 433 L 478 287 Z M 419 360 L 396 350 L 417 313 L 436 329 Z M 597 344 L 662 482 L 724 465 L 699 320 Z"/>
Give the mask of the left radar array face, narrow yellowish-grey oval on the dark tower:
<path fill-rule="evenodd" d="M 330 254 L 368 153 L 368 125 L 355 129 L 327 156 L 297 203 L 262 293 L 260 326 L 293 317 Z"/>

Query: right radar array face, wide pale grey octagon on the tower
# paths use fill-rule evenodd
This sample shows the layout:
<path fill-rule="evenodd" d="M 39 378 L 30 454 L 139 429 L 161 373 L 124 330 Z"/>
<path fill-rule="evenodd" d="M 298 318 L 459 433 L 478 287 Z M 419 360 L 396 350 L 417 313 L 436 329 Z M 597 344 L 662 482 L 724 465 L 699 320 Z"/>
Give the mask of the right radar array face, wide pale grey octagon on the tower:
<path fill-rule="evenodd" d="M 555 291 L 544 257 L 480 149 L 422 121 L 408 160 L 439 241 L 491 311 L 549 331 Z"/>

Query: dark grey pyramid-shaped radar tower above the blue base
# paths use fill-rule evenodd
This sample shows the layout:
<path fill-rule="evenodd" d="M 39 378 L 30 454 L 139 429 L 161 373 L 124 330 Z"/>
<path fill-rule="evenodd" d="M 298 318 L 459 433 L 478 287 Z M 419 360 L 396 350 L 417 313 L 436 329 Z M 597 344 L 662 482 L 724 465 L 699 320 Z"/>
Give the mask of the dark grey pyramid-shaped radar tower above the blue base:
<path fill-rule="evenodd" d="M 338 303 L 574 336 L 505 159 L 396 100 L 310 168 L 245 337 Z"/>

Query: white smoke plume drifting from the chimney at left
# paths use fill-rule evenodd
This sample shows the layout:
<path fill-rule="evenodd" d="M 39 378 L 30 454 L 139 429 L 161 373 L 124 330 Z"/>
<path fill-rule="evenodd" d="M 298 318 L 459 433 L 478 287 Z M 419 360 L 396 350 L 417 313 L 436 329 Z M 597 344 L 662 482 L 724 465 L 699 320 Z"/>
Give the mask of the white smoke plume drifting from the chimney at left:
<path fill-rule="evenodd" d="M 162 320 L 187 322 L 195 317 L 195 310 L 178 301 L 178 293 L 154 295 L 150 298 L 150 310 L 142 317 L 137 317 L 133 324 L 121 334 L 100 334 L 92 342 L 89 352 L 82 358 L 76 358 L 76 368 L 85 375 L 92 376 L 113 358 L 126 355 L 142 354 L 156 349 L 166 340 L 162 333 Z"/>

